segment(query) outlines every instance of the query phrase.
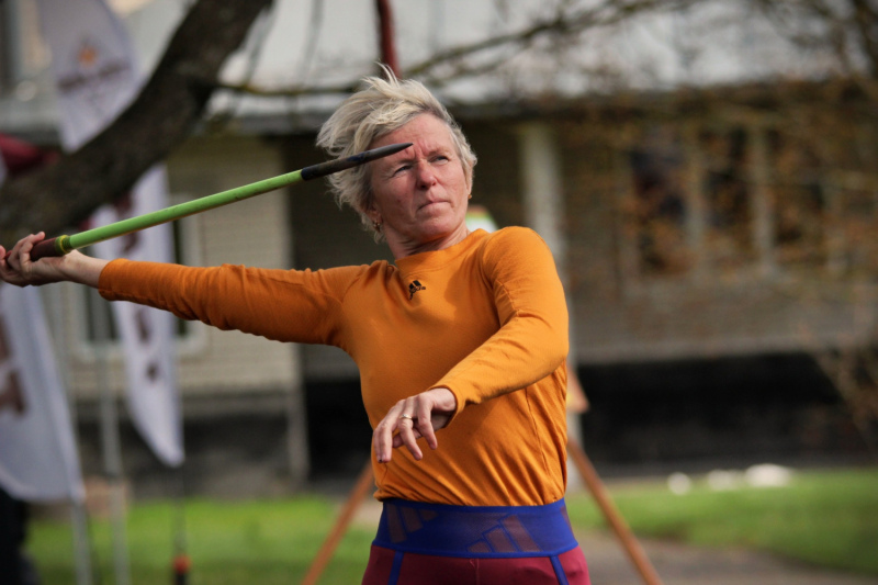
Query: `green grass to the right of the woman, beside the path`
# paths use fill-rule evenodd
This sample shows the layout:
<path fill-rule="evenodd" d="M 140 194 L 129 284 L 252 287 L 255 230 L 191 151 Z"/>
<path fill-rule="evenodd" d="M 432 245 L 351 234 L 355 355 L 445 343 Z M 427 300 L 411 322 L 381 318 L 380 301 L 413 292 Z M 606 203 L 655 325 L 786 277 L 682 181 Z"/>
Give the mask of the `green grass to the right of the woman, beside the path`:
<path fill-rule="evenodd" d="M 639 537 L 770 551 L 831 569 L 878 575 L 878 470 L 800 473 L 785 487 L 685 495 L 664 485 L 617 487 L 611 496 Z M 604 527 L 585 494 L 567 498 L 576 527 Z"/>

